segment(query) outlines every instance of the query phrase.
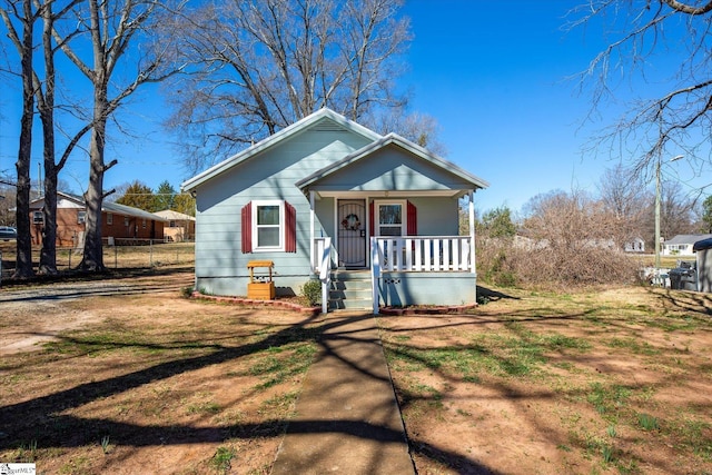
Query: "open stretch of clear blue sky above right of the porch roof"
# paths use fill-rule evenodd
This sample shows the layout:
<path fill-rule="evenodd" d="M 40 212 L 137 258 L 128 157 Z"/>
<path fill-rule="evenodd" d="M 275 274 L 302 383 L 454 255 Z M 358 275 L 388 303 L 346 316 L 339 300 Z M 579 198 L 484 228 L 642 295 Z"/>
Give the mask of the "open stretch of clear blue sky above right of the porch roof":
<path fill-rule="evenodd" d="M 572 187 L 595 191 L 612 162 L 584 158 L 580 130 L 589 98 L 566 78 L 599 44 L 563 26 L 575 2 L 408 2 L 416 109 L 437 118 L 448 159 L 490 182 L 481 209 L 518 210 L 530 198 Z"/>

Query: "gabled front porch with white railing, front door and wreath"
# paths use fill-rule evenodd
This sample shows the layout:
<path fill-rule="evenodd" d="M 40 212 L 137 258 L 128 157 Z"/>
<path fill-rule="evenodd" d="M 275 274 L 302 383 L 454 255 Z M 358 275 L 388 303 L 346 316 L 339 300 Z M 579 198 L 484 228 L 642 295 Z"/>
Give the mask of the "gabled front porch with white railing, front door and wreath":
<path fill-rule="evenodd" d="M 476 301 L 474 194 L 487 182 L 388 135 L 296 182 L 309 199 L 323 309 L 335 273 L 369 273 L 370 308 Z M 467 198 L 468 228 L 459 229 Z"/>

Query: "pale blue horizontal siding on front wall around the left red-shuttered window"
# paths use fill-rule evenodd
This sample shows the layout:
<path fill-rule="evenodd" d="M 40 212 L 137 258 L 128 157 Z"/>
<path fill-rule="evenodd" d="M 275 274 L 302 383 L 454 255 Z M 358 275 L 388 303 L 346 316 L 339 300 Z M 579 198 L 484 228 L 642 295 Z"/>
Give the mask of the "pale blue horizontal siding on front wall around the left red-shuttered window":
<path fill-rule="evenodd" d="M 305 131 L 199 187 L 196 215 L 198 288 L 216 295 L 244 295 L 249 275 L 247 263 L 253 259 L 275 263 L 277 287 L 303 284 L 310 271 L 310 207 L 295 182 L 366 144 L 364 138 L 350 132 Z M 240 210 L 256 199 L 286 200 L 295 207 L 297 253 L 241 253 Z M 333 220 L 333 211 L 329 216 Z M 316 226 L 319 232 L 320 224 Z"/>

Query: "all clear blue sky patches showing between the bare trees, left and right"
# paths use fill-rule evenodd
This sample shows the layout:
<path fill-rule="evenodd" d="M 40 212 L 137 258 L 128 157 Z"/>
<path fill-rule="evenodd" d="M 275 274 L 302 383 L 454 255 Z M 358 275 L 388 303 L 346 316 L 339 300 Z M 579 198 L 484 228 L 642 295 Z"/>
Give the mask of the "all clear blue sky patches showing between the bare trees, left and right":
<path fill-rule="evenodd" d="M 481 210 L 506 205 L 518 211 L 532 197 L 554 189 L 596 191 L 615 162 L 581 150 L 605 121 L 581 127 L 590 97 L 565 78 L 583 70 L 604 46 L 595 30 L 565 32 L 567 11 L 578 0 L 507 2 L 409 0 L 414 40 L 399 85 L 413 91 L 412 110 L 435 117 L 447 159 L 487 180 L 476 194 Z M 19 95 L 19 90 L 10 91 Z M 0 97 L 0 171 L 14 174 L 19 105 Z M 155 90 L 132 98 L 122 112 L 136 137 L 115 136 L 105 188 L 139 179 L 176 189 L 188 177 L 162 132 Z M 604 118 L 605 120 L 605 118 Z M 37 132 L 39 135 L 39 130 Z M 33 150 L 32 177 L 41 149 Z M 88 160 L 77 155 L 60 177 L 79 191 Z"/>

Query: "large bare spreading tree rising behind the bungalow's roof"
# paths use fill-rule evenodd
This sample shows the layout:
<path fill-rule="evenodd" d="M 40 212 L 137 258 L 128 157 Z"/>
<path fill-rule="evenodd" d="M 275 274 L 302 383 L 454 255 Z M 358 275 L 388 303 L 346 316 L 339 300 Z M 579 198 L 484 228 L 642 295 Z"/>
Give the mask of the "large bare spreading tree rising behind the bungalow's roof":
<path fill-rule="evenodd" d="M 402 0 L 227 0 L 187 17 L 192 75 L 171 85 L 168 122 L 199 170 L 323 107 L 368 123 L 402 105 L 394 78 L 409 23 Z M 175 93 L 179 90 L 180 93 Z"/>

